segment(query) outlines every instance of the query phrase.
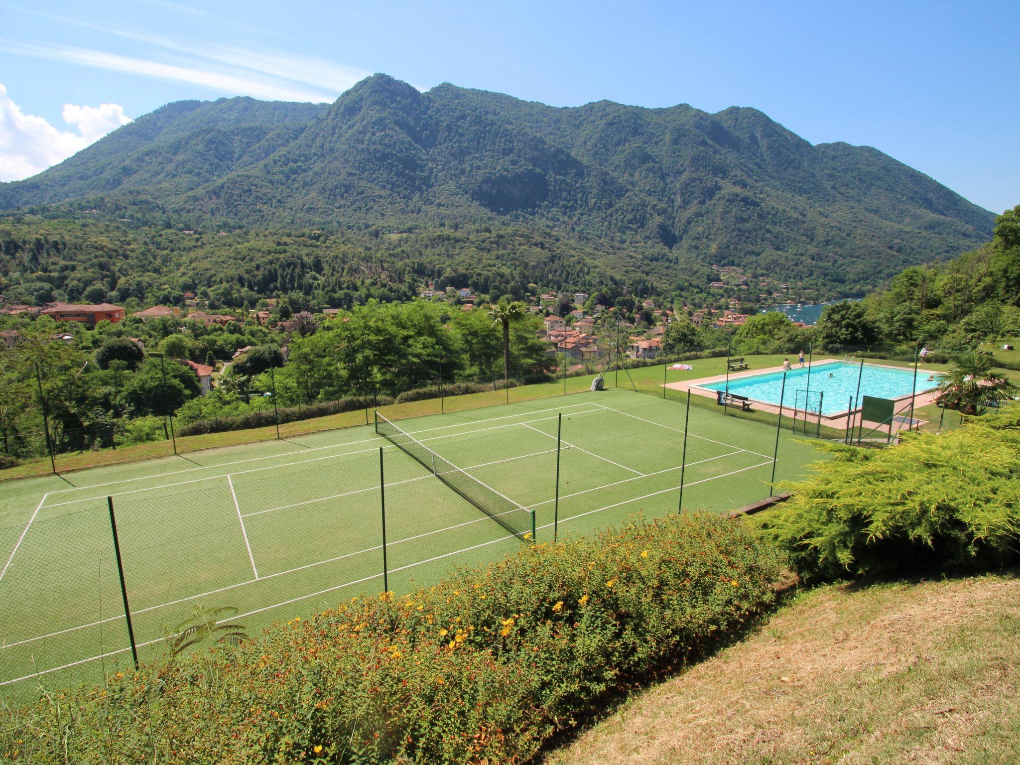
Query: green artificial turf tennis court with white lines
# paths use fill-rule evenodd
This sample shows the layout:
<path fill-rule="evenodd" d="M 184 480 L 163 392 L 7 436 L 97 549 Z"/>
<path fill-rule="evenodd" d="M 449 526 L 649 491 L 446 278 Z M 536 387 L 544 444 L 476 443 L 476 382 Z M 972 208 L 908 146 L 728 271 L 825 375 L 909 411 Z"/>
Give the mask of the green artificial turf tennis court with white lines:
<path fill-rule="evenodd" d="M 586 533 L 675 512 L 682 475 L 684 508 L 721 512 L 767 497 L 773 469 L 795 477 L 817 459 L 786 428 L 620 390 L 395 424 L 463 494 L 505 498 L 492 509 L 504 523 L 371 426 L 2 484 L 0 696 L 131 666 L 107 497 L 145 661 L 196 606 L 234 607 L 255 633 L 382 591 L 384 497 L 400 593 L 529 544 L 530 511 L 540 543 L 556 520 Z"/>

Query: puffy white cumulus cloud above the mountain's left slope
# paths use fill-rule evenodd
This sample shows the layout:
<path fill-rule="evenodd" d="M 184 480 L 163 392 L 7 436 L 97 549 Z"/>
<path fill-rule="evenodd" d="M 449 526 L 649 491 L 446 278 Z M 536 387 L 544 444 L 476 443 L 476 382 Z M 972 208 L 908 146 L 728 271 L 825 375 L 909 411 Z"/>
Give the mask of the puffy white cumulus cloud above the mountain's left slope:
<path fill-rule="evenodd" d="M 132 121 L 117 104 L 64 104 L 63 118 L 78 129 L 76 134 L 26 114 L 0 84 L 0 181 L 20 181 L 42 172 Z"/>

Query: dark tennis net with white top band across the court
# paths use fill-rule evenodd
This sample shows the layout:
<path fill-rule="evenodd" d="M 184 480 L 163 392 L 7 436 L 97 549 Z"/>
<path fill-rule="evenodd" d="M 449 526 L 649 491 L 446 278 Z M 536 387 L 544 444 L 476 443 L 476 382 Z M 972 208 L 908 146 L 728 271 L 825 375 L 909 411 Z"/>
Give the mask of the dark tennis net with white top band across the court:
<path fill-rule="evenodd" d="M 437 478 L 514 537 L 520 540 L 534 540 L 533 510 L 518 505 L 506 495 L 469 475 L 378 412 L 375 412 L 375 432 L 413 457 Z"/>

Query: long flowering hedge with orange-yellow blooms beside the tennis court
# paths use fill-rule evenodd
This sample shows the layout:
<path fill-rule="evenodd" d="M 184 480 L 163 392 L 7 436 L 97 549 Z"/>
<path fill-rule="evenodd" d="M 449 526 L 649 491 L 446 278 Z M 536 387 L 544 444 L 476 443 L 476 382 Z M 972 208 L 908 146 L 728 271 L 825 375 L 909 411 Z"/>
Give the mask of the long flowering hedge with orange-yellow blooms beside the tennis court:
<path fill-rule="evenodd" d="M 607 694 L 738 629 L 772 602 L 778 568 L 741 523 L 635 520 L 115 676 L 103 697 L 23 710 L 32 725 L 0 751 L 54 763 L 521 762 Z"/>

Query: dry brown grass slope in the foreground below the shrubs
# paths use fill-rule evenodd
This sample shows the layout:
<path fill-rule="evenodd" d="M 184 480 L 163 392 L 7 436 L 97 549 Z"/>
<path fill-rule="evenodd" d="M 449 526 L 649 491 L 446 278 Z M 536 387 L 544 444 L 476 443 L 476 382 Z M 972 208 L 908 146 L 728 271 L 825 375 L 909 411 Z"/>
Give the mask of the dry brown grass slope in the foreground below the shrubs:
<path fill-rule="evenodd" d="M 821 588 L 545 762 L 1017 763 L 1018 639 L 1013 576 Z"/>

